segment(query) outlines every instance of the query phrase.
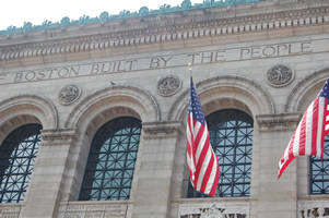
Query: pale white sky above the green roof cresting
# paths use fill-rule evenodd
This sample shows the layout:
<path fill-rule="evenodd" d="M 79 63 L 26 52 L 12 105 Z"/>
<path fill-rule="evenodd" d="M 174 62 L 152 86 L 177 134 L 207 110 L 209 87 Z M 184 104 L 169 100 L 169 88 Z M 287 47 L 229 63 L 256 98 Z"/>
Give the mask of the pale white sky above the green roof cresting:
<path fill-rule="evenodd" d="M 104 11 L 109 14 L 119 14 L 127 10 L 139 11 L 142 7 L 150 10 L 161 5 L 180 5 L 183 0 L 3 0 L 0 8 L 0 31 L 13 25 L 22 27 L 24 22 L 42 25 L 44 21 L 60 22 L 62 17 L 79 20 L 83 15 L 99 16 Z M 191 0 L 192 4 L 203 0 Z"/>

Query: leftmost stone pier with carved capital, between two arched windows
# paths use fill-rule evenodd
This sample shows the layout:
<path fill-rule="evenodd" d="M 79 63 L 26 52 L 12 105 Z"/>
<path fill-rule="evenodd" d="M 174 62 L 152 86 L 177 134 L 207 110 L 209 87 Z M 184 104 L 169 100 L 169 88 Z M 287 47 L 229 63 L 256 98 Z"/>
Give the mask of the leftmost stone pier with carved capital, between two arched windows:
<path fill-rule="evenodd" d="M 20 217 L 56 217 L 69 150 L 75 141 L 73 129 L 42 131 L 40 148 Z"/>

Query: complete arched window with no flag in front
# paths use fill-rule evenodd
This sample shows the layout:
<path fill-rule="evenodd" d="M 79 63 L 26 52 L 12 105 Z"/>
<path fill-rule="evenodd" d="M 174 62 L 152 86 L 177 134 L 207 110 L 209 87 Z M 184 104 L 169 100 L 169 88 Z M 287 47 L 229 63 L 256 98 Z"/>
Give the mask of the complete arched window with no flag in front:
<path fill-rule="evenodd" d="M 129 199 L 140 134 L 141 121 L 128 117 L 111 120 L 97 131 L 80 201 Z"/>

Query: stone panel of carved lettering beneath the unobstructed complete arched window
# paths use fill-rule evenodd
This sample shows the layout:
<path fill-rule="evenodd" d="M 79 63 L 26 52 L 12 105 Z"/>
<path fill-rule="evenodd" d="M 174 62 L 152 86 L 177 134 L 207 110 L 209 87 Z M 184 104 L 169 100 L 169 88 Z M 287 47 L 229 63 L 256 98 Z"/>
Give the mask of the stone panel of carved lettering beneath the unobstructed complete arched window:
<path fill-rule="evenodd" d="M 126 218 L 126 205 L 74 205 L 69 206 L 64 218 Z"/>

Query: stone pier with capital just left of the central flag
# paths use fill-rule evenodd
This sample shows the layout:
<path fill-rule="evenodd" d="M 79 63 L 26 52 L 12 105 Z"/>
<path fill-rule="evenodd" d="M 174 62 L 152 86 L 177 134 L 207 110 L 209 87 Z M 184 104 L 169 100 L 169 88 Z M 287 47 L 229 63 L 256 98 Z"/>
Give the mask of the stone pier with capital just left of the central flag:
<path fill-rule="evenodd" d="M 177 144 L 183 135 L 179 121 L 143 123 L 140 168 L 136 184 L 133 218 L 166 218 Z"/>

